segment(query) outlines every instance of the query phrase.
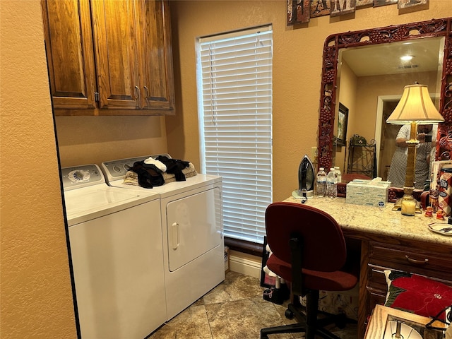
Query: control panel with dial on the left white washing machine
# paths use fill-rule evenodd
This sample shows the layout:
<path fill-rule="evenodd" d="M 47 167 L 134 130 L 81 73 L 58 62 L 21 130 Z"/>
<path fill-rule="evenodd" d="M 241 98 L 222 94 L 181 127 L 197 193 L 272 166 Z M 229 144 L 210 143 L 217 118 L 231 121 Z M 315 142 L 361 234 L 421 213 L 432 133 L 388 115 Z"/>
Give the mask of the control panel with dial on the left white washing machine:
<path fill-rule="evenodd" d="M 102 171 L 95 164 L 61 168 L 61 180 L 65 191 L 105 183 Z"/>

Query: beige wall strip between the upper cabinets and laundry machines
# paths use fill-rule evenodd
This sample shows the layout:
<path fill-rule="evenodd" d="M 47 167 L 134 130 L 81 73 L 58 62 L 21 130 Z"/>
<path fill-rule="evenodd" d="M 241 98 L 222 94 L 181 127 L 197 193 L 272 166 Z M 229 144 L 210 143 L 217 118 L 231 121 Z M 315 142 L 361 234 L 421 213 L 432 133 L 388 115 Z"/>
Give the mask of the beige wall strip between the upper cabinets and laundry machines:
<path fill-rule="evenodd" d="M 167 153 L 165 117 L 57 117 L 61 167 Z"/>

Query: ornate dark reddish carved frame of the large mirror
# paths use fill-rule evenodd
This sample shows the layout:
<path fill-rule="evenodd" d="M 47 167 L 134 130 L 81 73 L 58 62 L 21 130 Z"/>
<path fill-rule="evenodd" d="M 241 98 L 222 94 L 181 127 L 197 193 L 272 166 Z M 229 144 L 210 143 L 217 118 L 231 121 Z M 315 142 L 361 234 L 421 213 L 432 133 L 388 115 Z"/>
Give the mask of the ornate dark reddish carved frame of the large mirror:
<path fill-rule="evenodd" d="M 439 112 L 445 121 L 439 126 L 436 160 L 452 159 L 452 18 L 391 25 L 330 35 L 323 45 L 319 114 L 319 167 L 330 168 L 333 160 L 333 129 L 336 105 L 339 49 L 387 42 L 445 37 Z"/>

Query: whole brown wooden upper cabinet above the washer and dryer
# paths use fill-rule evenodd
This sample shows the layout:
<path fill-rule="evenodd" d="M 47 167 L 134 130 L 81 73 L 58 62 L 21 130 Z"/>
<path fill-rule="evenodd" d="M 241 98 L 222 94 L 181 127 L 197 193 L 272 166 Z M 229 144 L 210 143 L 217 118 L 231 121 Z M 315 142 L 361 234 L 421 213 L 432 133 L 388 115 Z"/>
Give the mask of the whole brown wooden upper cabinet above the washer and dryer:
<path fill-rule="evenodd" d="M 42 0 L 42 7 L 57 115 L 174 114 L 167 1 Z"/>

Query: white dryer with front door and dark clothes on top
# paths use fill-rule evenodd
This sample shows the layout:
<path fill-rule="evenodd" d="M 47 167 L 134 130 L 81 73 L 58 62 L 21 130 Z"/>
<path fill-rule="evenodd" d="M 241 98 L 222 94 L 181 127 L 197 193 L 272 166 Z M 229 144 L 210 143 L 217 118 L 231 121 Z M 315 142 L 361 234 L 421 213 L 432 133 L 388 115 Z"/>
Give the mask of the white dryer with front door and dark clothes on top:
<path fill-rule="evenodd" d="M 160 194 L 169 320 L 225 280 L 222 180 L 196 174 L 184 182 L 169 182 L 153 189 L 124 184 L 127 166 L 146 158 L 103 162 L 102 170 L 110 186 Z"/>

